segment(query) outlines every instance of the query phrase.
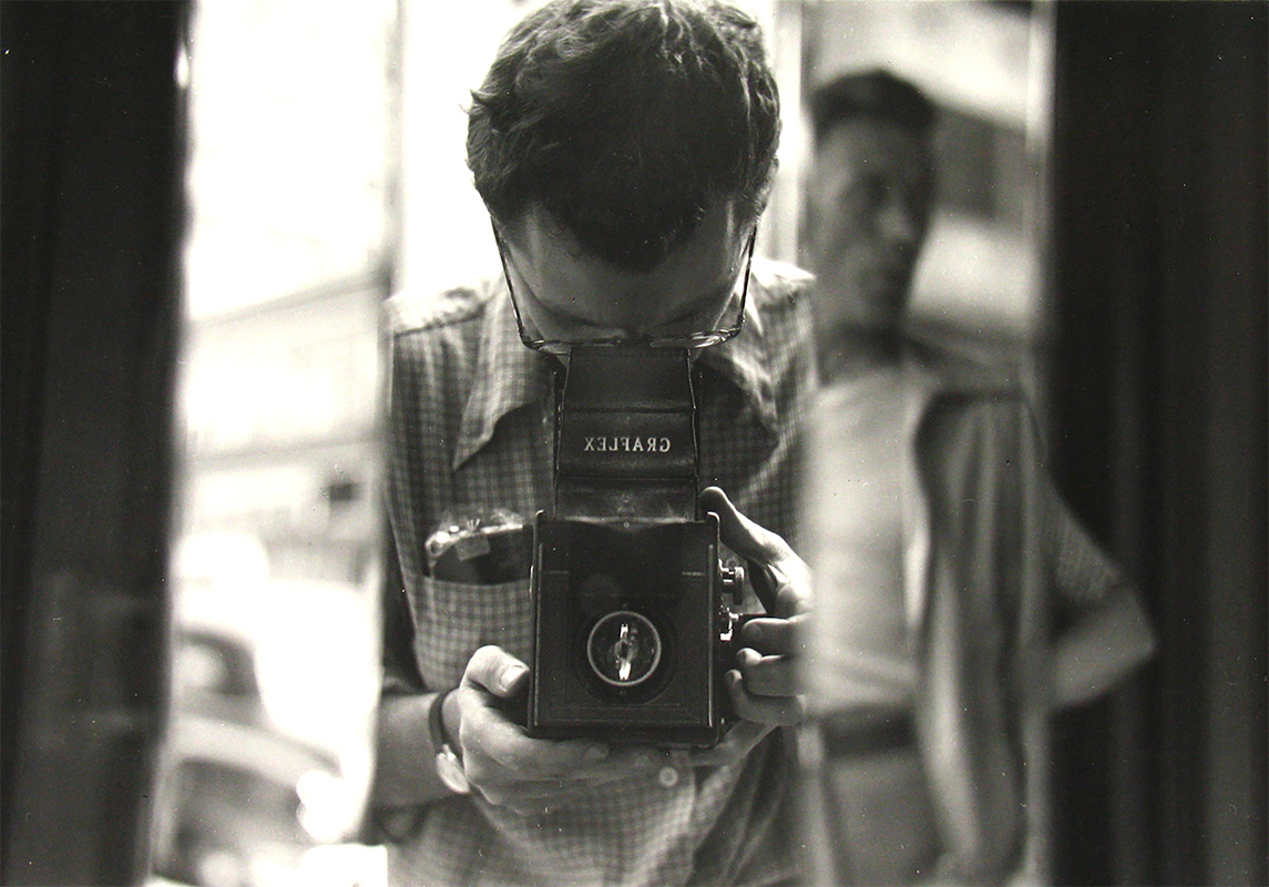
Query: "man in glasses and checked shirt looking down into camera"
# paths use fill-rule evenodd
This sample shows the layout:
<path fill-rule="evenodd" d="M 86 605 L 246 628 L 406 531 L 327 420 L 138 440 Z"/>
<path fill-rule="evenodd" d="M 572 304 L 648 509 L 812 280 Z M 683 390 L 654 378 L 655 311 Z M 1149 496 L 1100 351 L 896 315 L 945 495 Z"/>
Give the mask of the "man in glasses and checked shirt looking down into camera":
<path fill-rule="evenodd" d="M 753 255 L 778 135 L 756 23 L 708 0 L 549 3 L 511 30 L 473 95 L 468 165 L 504 274 L 390 303 L 400 582 L 386 600 L 373 806 L 393 883 L 797 878 L 792 747 L 779 727 L 802 718 L 793 654 L 808 576 L 787 539 L 813 372 L 806 275 Z M 671 354 L 671 369 L 681 355 L 670 376 L 687 392 L 692 454 L 678 464 L 694 501 L 670 496 L 667 515 L 704 527 L 714 561 L 711 530 L 745 562 L 753 588 L 739 609 L 760 618 L 728 627 L 723 656 L 687 648 L 673 608 L 605 585 L 627 577 L 582 584 L 589 601 L 614 601 L 579 634 L 588 687 L 646 718 L 657 700 L 643 702 L 645 674 L 673 685 L 698 657 L 717 660 L 725 704 L 693 704 L 709 725 L 730 707 L 718 741 L 662 744 L 655 730 L 634 742 L 614 730 L 541 739 L 525 726 L 534 654 L 556 655 L 541 634 L 534 650 L 529 562 L 546 555 L 532 551 L 533 515 L 563 501 L 558 419 L 567 388 L 591 384 L 565 379 L 581 354 L 607 365 L 605 348 L 631 365 L 645 349 Z M 645 382 L 614 373 L 600 387 Z M 678 448 L 641 428 L 581 447 L 631 464 Z M 600 501 L 608 524 L 664 529 L 667 515 L 641 504 L 656 499 L 647 485 L 622 483 L 565 504 L 579 523 Z M 621 563 L 660 575 L 648 560 Z M 688 574 L 711 594 L 722 585 Z M 585 671 L 576 661 L 561 674 Z"/>

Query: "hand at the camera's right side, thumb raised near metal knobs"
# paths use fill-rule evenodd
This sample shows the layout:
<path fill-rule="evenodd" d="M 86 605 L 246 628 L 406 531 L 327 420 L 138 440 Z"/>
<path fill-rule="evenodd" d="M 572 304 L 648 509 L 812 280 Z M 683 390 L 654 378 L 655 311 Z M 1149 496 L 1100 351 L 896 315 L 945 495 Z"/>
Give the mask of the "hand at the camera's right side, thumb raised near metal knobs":
<path fill-rule="evenodd" d="M 718 487 L 704 490 L 700 504 L 718 515 L 723 544 L 745 558 L 754 590 L 766 609 L 765 617 L 749 621 L 741 629 L 746 646 L 737 655 L 740 667 L 726 675 L 742 721 L 718 746 L 692 759 L 695 764 L 714 764 L 749 754 L 772 727 L 802 721 L 806 706 L 797 670 L 805 651 L 811 571 L 784 539 L 737 511 Z"/>

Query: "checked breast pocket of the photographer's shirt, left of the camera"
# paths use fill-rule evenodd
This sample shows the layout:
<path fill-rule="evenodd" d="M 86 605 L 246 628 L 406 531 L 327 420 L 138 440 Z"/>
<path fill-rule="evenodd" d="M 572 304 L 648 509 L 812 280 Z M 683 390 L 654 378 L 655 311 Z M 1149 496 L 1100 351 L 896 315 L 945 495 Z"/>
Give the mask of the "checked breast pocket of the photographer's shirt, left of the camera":
<path fill-rule="evenodd" d="M 467 660 L 489 643 L 529 662 L 533 607 L 527 577 L 480 585 L 425 576 L 419 590 L 414 652 L 429 688 L 457 687 Z"/>

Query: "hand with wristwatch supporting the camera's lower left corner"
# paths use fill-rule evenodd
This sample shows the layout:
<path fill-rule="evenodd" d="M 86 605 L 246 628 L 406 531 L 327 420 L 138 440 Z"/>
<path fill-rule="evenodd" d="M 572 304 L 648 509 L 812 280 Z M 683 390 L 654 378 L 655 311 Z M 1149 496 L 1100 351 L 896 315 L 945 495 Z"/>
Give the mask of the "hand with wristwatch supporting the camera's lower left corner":
<path fill-rule="evenodd" d="M 528 666 L 515 656 L 481 647 L 449 697 L 447 732 L 458 739 L 468 782 L 490 803 L 525 815 L 549 812 L 596 785 L 655 774 L 664 763 L 646 746 L 530 739 L 496 707 L 496 699 L 523 693 L 528 679 Z"/>

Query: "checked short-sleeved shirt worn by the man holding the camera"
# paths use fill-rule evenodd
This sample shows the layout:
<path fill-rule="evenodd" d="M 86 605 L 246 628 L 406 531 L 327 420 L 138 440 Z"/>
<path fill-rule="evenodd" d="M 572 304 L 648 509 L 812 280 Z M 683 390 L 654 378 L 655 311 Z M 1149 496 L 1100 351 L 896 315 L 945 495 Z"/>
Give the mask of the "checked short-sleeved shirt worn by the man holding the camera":
<path fill-rule="evenodd" d="M 808 277 L 754 261 L 744 331 L 694 368 L 702 483 L 797 544 L 798 431 L 813 371 Z M 497 585 L 426 575 L 424 542 L 456 510 L 503 508 L 532 522 L 551 503 L 553 358 L 519 341 L 497 278 L 387 305 L 392 348 L 387 503 L 426 688 L 453 687 L 480 646 L 528 659 L 528 577 Z M 396 651 L 405 652 L 405 651 Z M 391 657 L 388 657 L 391 659 Z M 385 692 L 418 692 L 385 675 Z M 480 797 L 420 811 L 390 846 L 391 881 L 425 884 L 780 883 L 794 874 L 791 754 L 779 731 L 749 758 L 665 787 L 631 779 L 542 816 Z"/>

